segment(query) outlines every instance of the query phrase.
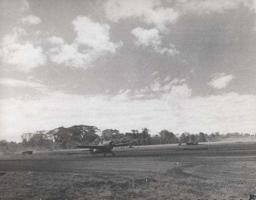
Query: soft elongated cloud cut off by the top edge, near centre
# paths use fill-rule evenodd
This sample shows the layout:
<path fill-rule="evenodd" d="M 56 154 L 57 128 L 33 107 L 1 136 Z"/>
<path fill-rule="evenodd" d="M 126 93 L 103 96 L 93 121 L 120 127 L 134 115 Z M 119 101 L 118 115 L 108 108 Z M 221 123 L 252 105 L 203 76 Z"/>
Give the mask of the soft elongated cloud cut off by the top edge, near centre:
<path fill-rule="evenodd" d="M 138 17 L 160 30 L 164 30 L 168 24 L 175 23 L 178 18 L 178 12 L 173 8 L 162 7 L 160 0 L 108 0 L 105 4 L 105 12 L 108 19 L 114 22 Z"/>

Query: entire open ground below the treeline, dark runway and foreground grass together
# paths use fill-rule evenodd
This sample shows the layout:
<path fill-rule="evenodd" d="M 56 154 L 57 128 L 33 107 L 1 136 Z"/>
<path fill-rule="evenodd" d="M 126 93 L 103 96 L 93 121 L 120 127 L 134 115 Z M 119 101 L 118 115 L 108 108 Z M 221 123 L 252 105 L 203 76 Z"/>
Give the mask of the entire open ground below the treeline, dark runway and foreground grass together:
<path fill-rule="evenodd" d="M 80 151 L 2 157 L 0 199 L 228 200 L 256 193 L 252 142 L 115 151 L 106 158 Z"/>

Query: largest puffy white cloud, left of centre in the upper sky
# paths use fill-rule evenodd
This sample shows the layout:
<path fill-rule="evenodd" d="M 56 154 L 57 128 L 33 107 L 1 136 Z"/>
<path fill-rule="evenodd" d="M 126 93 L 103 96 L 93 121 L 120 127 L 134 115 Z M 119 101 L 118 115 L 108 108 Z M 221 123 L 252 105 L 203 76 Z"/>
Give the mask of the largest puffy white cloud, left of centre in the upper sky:
<path fill-rule="evenodd" d="M 87 17 L 78 16 L 72 21 L 77 37 L 71 45 L 65 44 L 63 38 L 51 37 L 52 44 L 58 45 L 48 51 L 51 61 L 69 67 L 87 68 L 93 61 L 106 55 L 115 53 L 120 48 L 122 41 L 113 43 L 110 41 L 107 24 L 99 24 Z"/>

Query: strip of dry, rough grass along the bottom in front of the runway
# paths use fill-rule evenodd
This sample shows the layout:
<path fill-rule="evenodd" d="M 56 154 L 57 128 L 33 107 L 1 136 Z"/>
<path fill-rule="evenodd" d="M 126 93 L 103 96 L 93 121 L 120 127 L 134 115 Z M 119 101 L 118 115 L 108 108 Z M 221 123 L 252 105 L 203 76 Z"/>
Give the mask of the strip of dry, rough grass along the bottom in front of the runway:
<path fill-rule="evenodd" d="M 244 199 L 255 192 L 255 182 L 202 178 L 172 169 L 143 174 L 74 174 L 49 172 L 0 173 L 1 200 L 46 199 Z"/>

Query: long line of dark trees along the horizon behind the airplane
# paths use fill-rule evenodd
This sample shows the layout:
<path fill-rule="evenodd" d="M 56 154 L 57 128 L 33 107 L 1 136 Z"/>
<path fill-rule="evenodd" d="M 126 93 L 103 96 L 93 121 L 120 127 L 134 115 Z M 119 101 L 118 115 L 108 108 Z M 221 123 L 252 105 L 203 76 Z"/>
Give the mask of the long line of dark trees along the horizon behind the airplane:
<path fill-rule="evenodd" d="M 212 142 L 220 138 L 231 136 L 250 136 L 248 133 L 227 133 L 219 132 L 207 134 L 193 134 L 184 132 L 181 135 L 174 134 L 168 130 L 162 130 L 158 134 L 151 135 L 148 128 L 131 130 L 131 132 L 120 133 L 116 129 L 99 130 L 95 126 L 76 125 L 69 128 L 59 127 L 51 131 L 36 131 L 35 133 L 23 133 L 20 143 L 0 141 L 0 153 L 12 154 L 25 150 L 59 150 L 74 149 L 78 144 L 98 144 L 103 140 L 112 140 L 116 144 L 133 142 L 137 145 L 154 144 L 177 144 L 186 142 Z M 254 135 L 253 135 L 254 136 Z M 256 134 L 255 134 L 256 136 Z"/>

